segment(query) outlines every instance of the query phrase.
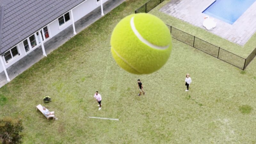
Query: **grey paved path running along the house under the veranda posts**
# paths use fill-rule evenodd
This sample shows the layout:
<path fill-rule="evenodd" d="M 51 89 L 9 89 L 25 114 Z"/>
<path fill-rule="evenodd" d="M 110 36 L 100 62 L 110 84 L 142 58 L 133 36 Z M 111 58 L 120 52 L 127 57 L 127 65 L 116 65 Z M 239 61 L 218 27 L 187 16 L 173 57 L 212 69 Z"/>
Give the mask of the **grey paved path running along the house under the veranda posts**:
<path fill-rule="evenodd" d="M 107 14 L 113 10 L 118 5 L 122 4 L 125 0 L 108 0 L 103 4 L 104 14 Z M 84 28 L 91 25 L 93 22 L 101 18 L 100 7 L 93 10 L 92 12 L 85 15 L 83 18 L 75 22 L 76 33 L 82 31 Z M 71 37 L 73 37 L 73 27 L 72 25 L 61 31 L 58 35 L 52 37 L 47 42 L 44 43 L 44 49 L 46 54 L 51 53 L 53 50 L 57 49 L 59 46 L 67 42 Z M 31 67 L 33 64 L 38 62 L 43 58 L 43 52 L 41 46 L 36 48 L 34 51 L 30 52 L 27 56 L 23 57 L 12 66 L 6 69 L 10 80 L 14 79 L 16 76 L 21 74 L 23 71 Z M 4 86 L 8 81 L 4 71 L 0 73 L 0 87 Z"/>

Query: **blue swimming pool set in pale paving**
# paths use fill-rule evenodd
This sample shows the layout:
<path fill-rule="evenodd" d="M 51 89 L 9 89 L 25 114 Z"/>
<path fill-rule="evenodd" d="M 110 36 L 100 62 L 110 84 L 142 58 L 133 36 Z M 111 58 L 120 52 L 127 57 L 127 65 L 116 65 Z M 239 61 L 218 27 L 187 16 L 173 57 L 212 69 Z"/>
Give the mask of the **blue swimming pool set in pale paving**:
<path fill-rule="evenodd" d="M 233 24 L 256 0 L 216 0 L 203 13 Z"/>

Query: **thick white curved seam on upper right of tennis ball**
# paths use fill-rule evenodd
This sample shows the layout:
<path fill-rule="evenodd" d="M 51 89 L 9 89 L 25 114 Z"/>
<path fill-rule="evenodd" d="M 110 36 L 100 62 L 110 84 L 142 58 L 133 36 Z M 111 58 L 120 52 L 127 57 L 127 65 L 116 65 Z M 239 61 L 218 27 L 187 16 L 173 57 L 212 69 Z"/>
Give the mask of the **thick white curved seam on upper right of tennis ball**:
<path fill-rule="evenodd" d="M 164 50 L 164 49 L 167 49 L 167 48 L 169 47 L 169 45 L 167 45 L 167 46 L 157 46 L 157 45 L 151 44 L 151 43 L 148 42 L 146 39 L 144 39 L 144 38 L 140 35 L 140 33 L 138 32 L 138 30 L 135 28 L 134 17 L 131 18 L 130 24 L 131 24 L 133 33 L 139 38 L 139 40 L 140 40 L 142 43 L 148 45 L 149 47 L 152 47 L 152 48 L 154 48 L 154 49 L 159 49 L 159 50 Z"/>

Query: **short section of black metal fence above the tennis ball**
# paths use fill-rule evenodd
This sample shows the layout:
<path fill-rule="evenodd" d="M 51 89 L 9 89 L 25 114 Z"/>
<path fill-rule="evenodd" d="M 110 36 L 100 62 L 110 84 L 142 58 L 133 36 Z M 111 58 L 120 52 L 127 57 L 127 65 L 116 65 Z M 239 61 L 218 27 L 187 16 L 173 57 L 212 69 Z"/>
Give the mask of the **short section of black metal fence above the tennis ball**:
<path fill-rule="evenodd" d="M 158 4 L 162 3 L 164 0 L 150 0 L 146 4 L 142 5 L 139 9 L 135 11 L 135 13 L 140 12 L 149 12 L 153 8 L 155 8 Z"/>

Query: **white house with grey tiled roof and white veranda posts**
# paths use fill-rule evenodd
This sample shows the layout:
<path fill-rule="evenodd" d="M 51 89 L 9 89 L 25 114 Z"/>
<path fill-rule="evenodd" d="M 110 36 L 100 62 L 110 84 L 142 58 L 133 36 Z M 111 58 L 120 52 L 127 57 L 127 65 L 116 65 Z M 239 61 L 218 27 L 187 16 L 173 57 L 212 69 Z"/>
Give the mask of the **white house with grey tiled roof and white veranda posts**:
<path fill-rule="evenodd" d="M 0 72 L 108 0 L 0 0 Z"/>

